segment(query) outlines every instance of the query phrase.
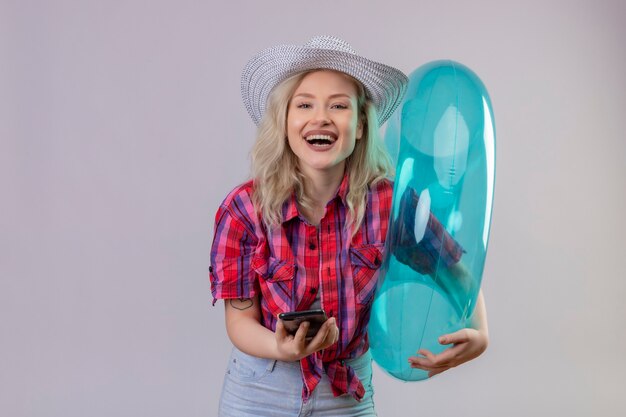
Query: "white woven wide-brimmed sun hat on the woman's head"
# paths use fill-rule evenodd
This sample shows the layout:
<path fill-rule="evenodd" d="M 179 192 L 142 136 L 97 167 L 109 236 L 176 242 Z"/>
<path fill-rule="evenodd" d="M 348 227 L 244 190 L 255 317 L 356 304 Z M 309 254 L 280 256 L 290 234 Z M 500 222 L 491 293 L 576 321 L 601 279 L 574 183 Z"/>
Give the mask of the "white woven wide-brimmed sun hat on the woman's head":
<path fill-rule="evenodd" d="M 357 55 L 334 36 L 316 36 L 304 45 L 273 46 L 252 57 L 241 75 L 243 103 L 254 123 L 261 122 L 272 88 L 312 69 L 341 71 L 360 81 L 376 107 L 379 126 L 400 105 L 409 82 L 402 71 Z"/>

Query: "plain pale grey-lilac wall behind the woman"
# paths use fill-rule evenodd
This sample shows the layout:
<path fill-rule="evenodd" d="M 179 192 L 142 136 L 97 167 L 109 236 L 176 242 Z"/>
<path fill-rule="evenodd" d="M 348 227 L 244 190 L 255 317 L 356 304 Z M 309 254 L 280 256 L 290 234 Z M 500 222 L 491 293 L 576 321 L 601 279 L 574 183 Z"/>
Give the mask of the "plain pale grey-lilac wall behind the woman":
<path fill-rule="evenodd" d="M 0 2 L 0 414 L 214 416 L 207 268 L 248 175 L 241 69 L 316 34 L 472 68 L 497 128 L 491 345 L 381 416 L 626 413 L 626 3 Z"/>

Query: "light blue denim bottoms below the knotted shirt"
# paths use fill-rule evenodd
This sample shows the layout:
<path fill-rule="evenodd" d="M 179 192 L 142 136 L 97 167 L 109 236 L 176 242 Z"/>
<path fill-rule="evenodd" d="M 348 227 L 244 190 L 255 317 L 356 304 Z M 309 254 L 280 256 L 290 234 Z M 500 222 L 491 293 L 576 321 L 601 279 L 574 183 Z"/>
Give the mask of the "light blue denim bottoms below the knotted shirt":
<path fill-rule="evenodd" d="M 220 417 L 376 416 L 372 388 L 372 357 L 366 352 L 346 361 L 365 387 L 361 402 L 349 394 L 333 396 L 326 374 L 313 394 L 302 401 L 299 362 L 262 359 L 233 348 L 222 386 Z"/>

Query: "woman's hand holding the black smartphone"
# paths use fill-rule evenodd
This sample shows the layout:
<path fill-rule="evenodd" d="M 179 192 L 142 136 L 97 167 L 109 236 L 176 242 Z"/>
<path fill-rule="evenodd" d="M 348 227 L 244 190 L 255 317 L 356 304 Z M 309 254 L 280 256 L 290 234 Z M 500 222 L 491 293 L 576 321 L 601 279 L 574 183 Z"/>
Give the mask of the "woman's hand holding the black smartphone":
<path fill-rule="evenodd" d="M 329 318 L 322 324 L 317 334 L 307 343 L 306 332 L 309 329 L 309 322 L 300 324 L 295 335 L 287 333 L 282 320 L 276 323 L 276 350 L 280 360 L 293 362 L 300 360 L 318 350 L 337 343 L 339 339 L 339 328 L 334 317 Z"/>

